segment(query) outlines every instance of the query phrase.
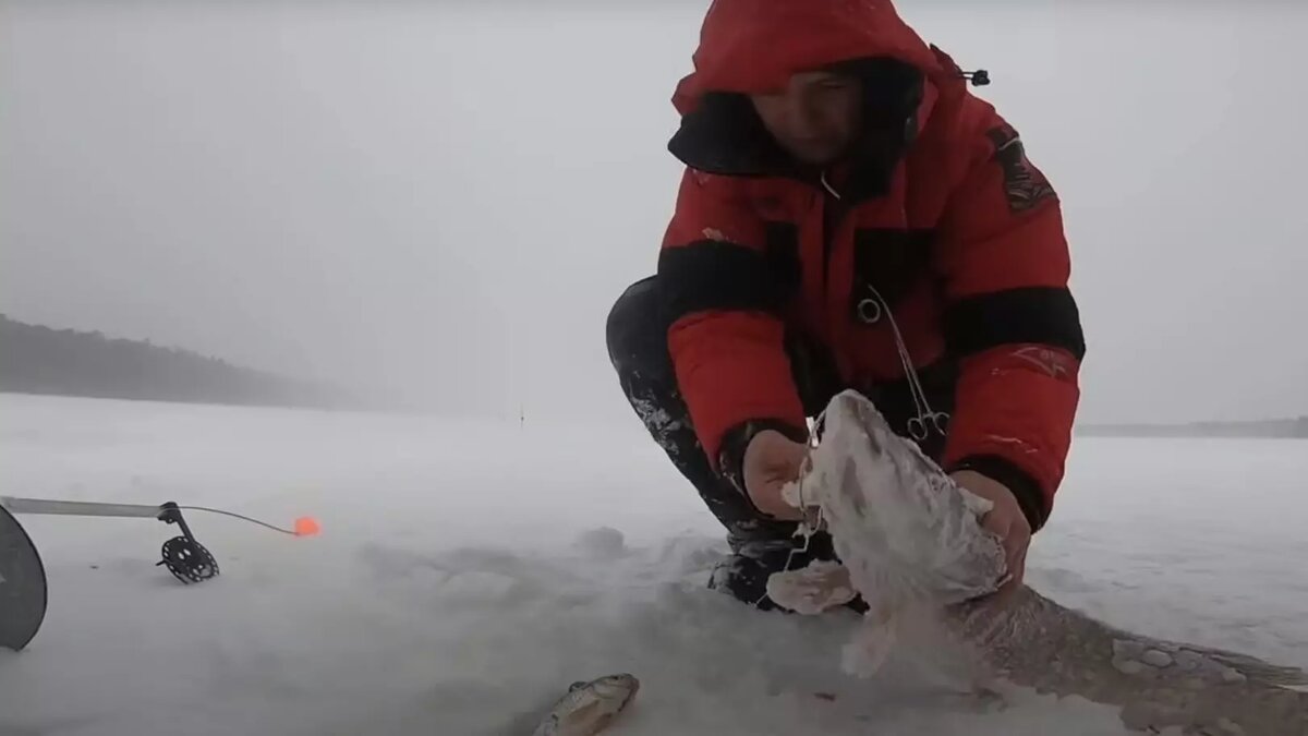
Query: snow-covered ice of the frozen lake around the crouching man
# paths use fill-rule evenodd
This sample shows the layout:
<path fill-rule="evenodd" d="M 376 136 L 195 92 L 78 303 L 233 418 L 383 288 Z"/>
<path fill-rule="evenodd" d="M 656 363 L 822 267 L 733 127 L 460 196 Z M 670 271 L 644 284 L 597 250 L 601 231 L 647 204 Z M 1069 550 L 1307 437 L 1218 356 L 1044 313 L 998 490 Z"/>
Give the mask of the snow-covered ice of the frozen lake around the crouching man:
<path fill-rule="evenodd" d="M 21 517 L 50 610 L 26 651 L 0 652 L 7 736 L 509 736 L 608 672 L 642 685 L 615 736 L 1125 733 L 1107 707 L 1024 693 L 1001 710 L 893 661 L 845 676 L 853 614 L 705 589 L 721 530 L 634 416 L 0 396 L 0 473 L 3 495 L 323 526 L 190 513 L 222 574 L 183 587 L 154 567 L 174 526 Z M 1301 441 L 1078 439 L 1027 580 L 1133 631 L 1308 668 L 1305 477 Z"/>

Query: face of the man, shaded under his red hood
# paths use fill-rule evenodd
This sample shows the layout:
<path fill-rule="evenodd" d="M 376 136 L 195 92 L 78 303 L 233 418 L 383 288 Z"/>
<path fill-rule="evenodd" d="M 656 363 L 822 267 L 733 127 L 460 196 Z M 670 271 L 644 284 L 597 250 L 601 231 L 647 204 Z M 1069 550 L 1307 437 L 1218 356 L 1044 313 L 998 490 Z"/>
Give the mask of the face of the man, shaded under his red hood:
<path fill-rule="evenodd" d="M 785 89 L 749 100 L 768 132 L 804 164 L 833 164 L 858 138 L 862 89 L 852 76 L 803 72 L 790 77 Z"/>

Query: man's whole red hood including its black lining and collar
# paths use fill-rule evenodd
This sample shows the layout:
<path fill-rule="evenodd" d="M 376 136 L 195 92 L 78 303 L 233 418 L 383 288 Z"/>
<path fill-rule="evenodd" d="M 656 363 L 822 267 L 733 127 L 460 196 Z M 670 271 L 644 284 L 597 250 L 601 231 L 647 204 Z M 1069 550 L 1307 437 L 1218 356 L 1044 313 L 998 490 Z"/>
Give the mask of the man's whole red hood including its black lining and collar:
<path fill-rule="evenodd" d="M 840 69 L 865 86 L 865 131 L 850 152 L 841 196 L 884 193 L 943 89 L 963 72 L 923 42 L 891 0 L 714 0 L 695 72 L 672 103 L 681 124 L 668 151 L 691 168 L 725 175 L 821 182 L 793 161 L 753 113 L 748 94 L 783 88 L 798 72 Z"/>

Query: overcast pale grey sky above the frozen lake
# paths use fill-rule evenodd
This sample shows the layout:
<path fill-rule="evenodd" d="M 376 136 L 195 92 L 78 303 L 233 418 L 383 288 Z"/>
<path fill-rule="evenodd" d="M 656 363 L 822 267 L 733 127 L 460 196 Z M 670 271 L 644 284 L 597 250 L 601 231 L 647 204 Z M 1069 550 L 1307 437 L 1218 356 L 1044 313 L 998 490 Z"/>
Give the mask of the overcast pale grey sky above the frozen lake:
<path fill-rule="evenodd" d="M 627 418 L 604 317 L 706 0 L 613 5 L 0 4 L 0 310 Z M 1063 196 L 1084 420 L 1308 414 L 1303 4 L 900 8 Z"/>

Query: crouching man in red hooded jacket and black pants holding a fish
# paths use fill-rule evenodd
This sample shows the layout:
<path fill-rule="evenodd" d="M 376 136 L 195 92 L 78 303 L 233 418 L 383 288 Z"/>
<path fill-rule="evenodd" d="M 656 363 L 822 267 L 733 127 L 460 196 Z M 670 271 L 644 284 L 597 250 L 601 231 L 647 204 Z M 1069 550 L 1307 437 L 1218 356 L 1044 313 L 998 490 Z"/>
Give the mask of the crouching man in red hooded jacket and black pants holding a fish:
<path fill-rule="evenodd" d="M 807 419 L 872 399 L 994 502 L 1020 581 L 1062 481 L 1084 339 L 1058 198 L 889 0 L 715 0 L 674 103 L 658 272 L 608 317 L 629 402 L 727 528 L 712 585 L 773 608 Z"/>

